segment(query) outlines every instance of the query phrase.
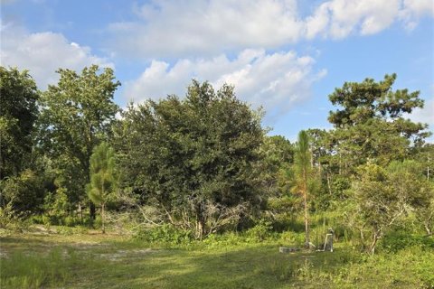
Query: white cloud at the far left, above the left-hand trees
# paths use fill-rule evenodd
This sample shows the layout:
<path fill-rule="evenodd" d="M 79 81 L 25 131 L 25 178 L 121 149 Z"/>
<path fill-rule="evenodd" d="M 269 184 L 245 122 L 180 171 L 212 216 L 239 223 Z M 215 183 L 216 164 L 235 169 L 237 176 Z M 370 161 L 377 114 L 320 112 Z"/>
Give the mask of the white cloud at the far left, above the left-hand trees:
<path fill-rule="evenodd" d="M 61 33 L 28 33 L 22 27 L 3 24 L 1 33 L 1 64 L 29 70 L 40 89 L 56 83 L 59 68 L 82 70 L 90 64 L 113 67 L 106 59 L 90 52 L 89 47 L 69 42 Z"/>

